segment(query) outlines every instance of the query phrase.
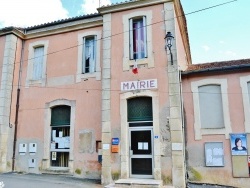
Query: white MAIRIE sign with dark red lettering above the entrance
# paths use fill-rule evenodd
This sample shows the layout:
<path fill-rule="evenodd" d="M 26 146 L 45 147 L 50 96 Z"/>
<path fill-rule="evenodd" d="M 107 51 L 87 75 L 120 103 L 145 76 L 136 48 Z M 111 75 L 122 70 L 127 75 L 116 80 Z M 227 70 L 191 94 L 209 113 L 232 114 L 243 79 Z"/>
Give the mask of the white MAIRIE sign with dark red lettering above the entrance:
<path fill-rule="evenodd" d="M 121 91 L 131 91 L 138 89 L 156 89 L 156 88 L 157 88 L 157 79 L 121 82 Z"/>

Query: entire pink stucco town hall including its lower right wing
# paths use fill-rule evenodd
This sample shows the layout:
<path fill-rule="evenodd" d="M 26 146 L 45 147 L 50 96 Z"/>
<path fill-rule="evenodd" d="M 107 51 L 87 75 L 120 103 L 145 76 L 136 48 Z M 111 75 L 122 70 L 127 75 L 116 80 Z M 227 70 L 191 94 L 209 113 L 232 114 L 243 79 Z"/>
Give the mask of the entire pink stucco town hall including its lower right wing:
<path fill-rule="evenodd" d="M 249 187 L 250 60 L 192 65 L 183 15 L 131 0 L 0 29 L 0 171 Z"/>

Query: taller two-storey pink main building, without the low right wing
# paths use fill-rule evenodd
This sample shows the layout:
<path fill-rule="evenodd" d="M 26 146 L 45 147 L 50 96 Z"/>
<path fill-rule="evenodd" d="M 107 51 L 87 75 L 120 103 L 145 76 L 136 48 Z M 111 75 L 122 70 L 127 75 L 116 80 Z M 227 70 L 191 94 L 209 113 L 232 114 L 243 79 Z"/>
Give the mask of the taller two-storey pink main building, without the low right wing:
<path fill-rule="evenodd" d="M 1 29 L 0 170 L 185 187 L 180 15 L 179 0 L 137 0 Z"/>

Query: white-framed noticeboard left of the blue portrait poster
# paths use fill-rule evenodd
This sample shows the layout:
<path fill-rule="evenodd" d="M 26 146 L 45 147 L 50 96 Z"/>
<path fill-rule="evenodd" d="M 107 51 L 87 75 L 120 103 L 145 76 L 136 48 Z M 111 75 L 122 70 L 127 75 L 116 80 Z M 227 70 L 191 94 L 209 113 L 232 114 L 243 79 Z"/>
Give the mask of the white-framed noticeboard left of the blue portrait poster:
<path fill-rule="evenodd" d="M 224 166 L 222 142 L 205 142 L 206 166 Z"/>

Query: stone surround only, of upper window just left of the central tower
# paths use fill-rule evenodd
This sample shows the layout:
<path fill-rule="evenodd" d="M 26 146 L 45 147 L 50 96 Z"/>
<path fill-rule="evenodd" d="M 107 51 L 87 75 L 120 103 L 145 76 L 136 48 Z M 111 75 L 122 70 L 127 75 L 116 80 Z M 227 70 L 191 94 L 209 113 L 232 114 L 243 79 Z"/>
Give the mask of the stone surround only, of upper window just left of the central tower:
<path fill-rule="evenodd" d="M 96 38 L 96 56 L 95 56 L 95 72 L 93 73 L 82 73 L 83 70 L 83 57 L 84 57 L 84 38 L 95 36 Z M 81 82 L 83 79 L 96 78 L 101 80 L 101 64 L 100 64 L 100 53 L 101 53 L 101 31 L 89 31 L 78 34 L 78 62 L 77 62 L 77 73 L 76 82 Z"/>

